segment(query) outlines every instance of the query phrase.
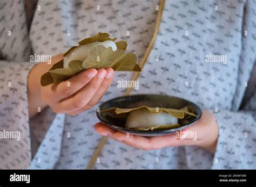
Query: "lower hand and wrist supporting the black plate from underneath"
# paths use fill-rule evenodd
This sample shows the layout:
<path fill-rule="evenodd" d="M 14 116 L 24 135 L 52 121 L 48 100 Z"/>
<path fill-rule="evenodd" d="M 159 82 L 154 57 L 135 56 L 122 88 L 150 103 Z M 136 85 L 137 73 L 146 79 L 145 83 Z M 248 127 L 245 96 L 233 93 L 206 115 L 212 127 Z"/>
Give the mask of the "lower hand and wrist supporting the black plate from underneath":
<path fill-rule="evenodd" d="M 197 124 L 180 131 L 164 136 L 143 137 L 137 135 L 126 136 L 125 133 L 117 132 L 105 126 L 102 123 L 95 125 L 95 130 L 104 136 L 109 136 L 125 145 L 136 147 L 143 150 L 160 149 L 164 147 L 177 147 L 177 146 L 199 146 L 207 149 L 211 153 L 215 153 L 218 140 L 218 125 L 211 112 L 208 110 L 203 111 L 203 116 Z M 182 134 L 194 134 L 193 138 L 182 137 Z M 178 137 L 178 135 L 180 135 Z"/>

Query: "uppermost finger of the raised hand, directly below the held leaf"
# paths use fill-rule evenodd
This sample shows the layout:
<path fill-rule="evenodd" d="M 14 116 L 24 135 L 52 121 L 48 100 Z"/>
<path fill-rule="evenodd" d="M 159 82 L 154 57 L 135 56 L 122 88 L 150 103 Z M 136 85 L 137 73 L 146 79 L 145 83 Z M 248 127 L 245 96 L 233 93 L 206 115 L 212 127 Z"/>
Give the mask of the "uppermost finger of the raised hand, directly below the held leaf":
<path fill-rule="evenodd" d="M 51 95 L 54 97 L 53 99 L 59 101 L 72 96 L 88 84 L 92 78 L 96 76 L 97 72 L 98 71 L 94 68 L 86 69 L 66 81 L 53 85 L 51 87 Z"/>

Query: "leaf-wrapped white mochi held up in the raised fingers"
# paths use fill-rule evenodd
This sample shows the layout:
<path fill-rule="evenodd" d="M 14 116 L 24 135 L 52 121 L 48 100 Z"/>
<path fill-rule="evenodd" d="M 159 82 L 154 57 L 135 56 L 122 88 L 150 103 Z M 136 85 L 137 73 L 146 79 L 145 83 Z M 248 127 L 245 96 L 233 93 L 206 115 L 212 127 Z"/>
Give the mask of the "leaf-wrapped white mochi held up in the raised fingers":
<path fill-rule="evenodd" d="M 108 33 L 99 32 L 93 37 L 79 41 L 78 46 L 71 47 L 63 55 L 64 60 L 60 60 L 54 64 L 47 73 L 42 75 L 41 85 L 46 86 L 68 80 L 70 77 L 89 68 L 113 68 L 115 71 L 141 71 L 141 68 L 137 64 L 136 54 L 124 52 L 127 47 L 126 41 L 114 42 L 117 38 L 111 39 L 109 37 L 110 35 Z M 112 44 L 111 47 L 104 47 L 110 44 Z M 87 53 L 83 52 L 85 46 L 91 46 Z M 113 48 L 115 49 L 113 50 Z M 81 54 L 77 59 L 71 56 L 77 53 L 84 54 Z M 86 56 L 85 59 L 83 59 L 83 56 Z M 72 60 L 67 63 L 67 59 Z"/>

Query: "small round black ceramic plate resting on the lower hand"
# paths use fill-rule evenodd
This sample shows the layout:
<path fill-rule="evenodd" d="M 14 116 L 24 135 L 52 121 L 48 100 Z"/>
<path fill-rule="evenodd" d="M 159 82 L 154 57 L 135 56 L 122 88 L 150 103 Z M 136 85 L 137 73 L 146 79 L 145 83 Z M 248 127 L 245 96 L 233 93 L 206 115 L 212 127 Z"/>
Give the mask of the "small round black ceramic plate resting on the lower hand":
<path fill-rule="evenodd" d="M 123 133 L 130 133 L 139 136 L 160 136 L 166 134 L 172 134 L 176 131 L 183 130 L 200 119 L 202 115 L 202 111 L 200 107 L 188 100 L 181 99 L 173 96 L 165 96 L 165 95 L 130 95 L 124 97 L 118 97 L 111 100 L 107 100 L 105 103 L 99 106 L 99 111 L 109 109 L 111 107 L 119 107 L 123 109 L 129 109 L 139 106 L 149 106 L 149 107 L 165 107 L 171 109 L 181 109 L 185 106 L 192 106 L 194 109 L 194 113 L 197 114 L 198 117 L 192 117 L 187 125 L 180 126 L 177 128 L 167 128 L 164 130 L 153 130 L 153 131 L 138 131 L 131 130 L 125 128 L 124 120 L 113 119 L 110 116 L 103 115 L 100 112 L 96 112 L 97 117 L 103 124 L 109 126 L 113 130 L 120 131 Z"/>

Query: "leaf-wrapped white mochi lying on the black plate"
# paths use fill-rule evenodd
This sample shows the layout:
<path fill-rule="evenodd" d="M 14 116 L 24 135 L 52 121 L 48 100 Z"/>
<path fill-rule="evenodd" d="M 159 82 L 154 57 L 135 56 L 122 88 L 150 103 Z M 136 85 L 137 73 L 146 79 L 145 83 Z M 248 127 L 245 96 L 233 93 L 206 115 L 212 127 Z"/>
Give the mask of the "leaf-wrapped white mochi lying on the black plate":
<path fill-rule="evenodd" d="M 154 114 L 165 113 L 165 114 L 169 114 L 171 117 L 173 117 L 173 119 L 169 119 L 169 120 L 175 121 L 175 119 L 177 119 L 177 121 L 176 121 L 176 123 L 172 123 L 172 124 L 158 124 L 158 125 L 154 124 L 151 126 L 147 126 L 145 128 L 145 126 L 142 127 L 139 124 L 139 123 L 143 123 L 143 122 L 136 121 L 137 120 L 137 118 L 136 118 L 136 119 L 132 119 L 132 120 L 135 120 L 134 123 L 137 124 L 135 127 L 134 126 L 129 127 L 129 125 L 127 126 L 127 120 L 129 120 L 129 118 L 131 116 L 131 112 L 134 112 L 138 118 L 143 118 L 143 116 L 142 116 L 143 114 L 140 115 L 140 111 L 145 110 L 145 109 L 151 113 L 153 118 L 154 118 Z M 132 109 L 120 109 L 118 107 L 112 107 L 110 109 L 101 111 L 101 113 L 104 113 L 104 115 L 108 115 L 113 119 L 126 119 L 126 125 L 125 125 L 126 128 L 133 128 L 133 129 L 139 130 L 139 131 L 149 131 L 149 130 L 153 131 L 153 130 L 161 130 L 161 129 L 166 129 L 166 128 L 177 128 L 177 127 L 180 127 L 180 125 L 186 125 L 186 121 L 188 119 L 190 119 L 191 117 L 197 117 L 197 115 L 193 112 L 193 108 L 191 106 L 186 106 L 179 110 L 178 109 L 147 107 L 146 105 L 143 105 L 143 106 L 140 106 L 137 108 L 132 108 Z M 147 114 L 146 118 L 150 118 L 150 120 L 153 119 L 148 114 Z M 152 120 L 152 121 L 154 121 L 154 120 Z"/>

